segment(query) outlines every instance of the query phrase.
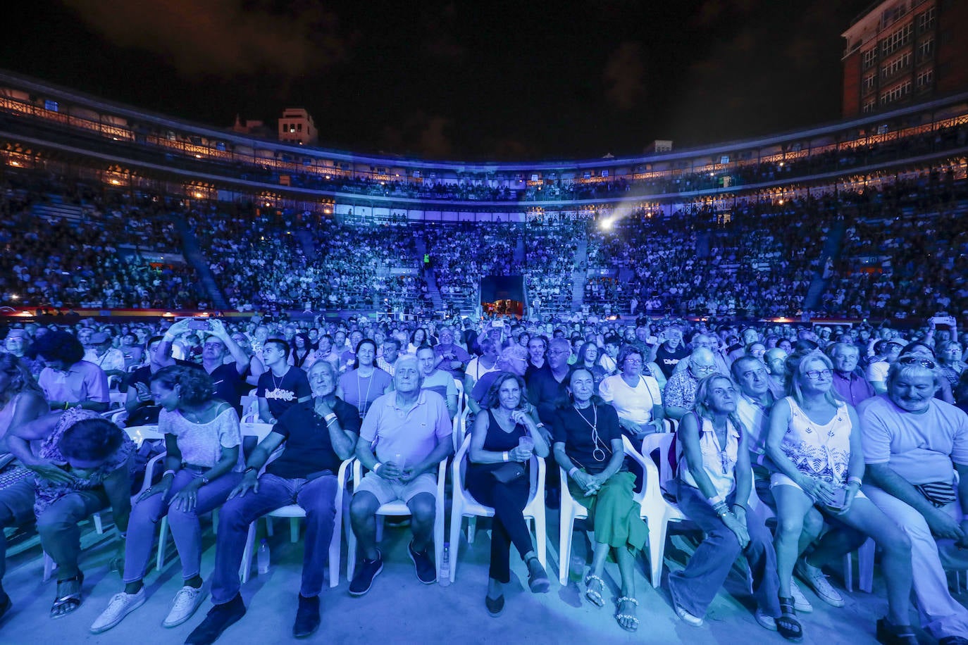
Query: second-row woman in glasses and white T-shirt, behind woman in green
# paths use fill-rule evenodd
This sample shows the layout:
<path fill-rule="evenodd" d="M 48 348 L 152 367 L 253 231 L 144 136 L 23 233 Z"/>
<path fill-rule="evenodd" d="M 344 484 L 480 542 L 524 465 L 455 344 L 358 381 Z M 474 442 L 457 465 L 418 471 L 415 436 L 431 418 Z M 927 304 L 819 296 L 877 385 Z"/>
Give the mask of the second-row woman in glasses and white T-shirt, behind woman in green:
<path fill-rule="evenodd" d="M 642 373 L 642 352 L 635 345 L 625 345 L 616 363 L 619 373 L 602 379 L 598 396 L 612 404 L 622 432 L 631 438 L 641 441 L 647 434 L 661 432 L 662 395 L 655 379 Z"/>

